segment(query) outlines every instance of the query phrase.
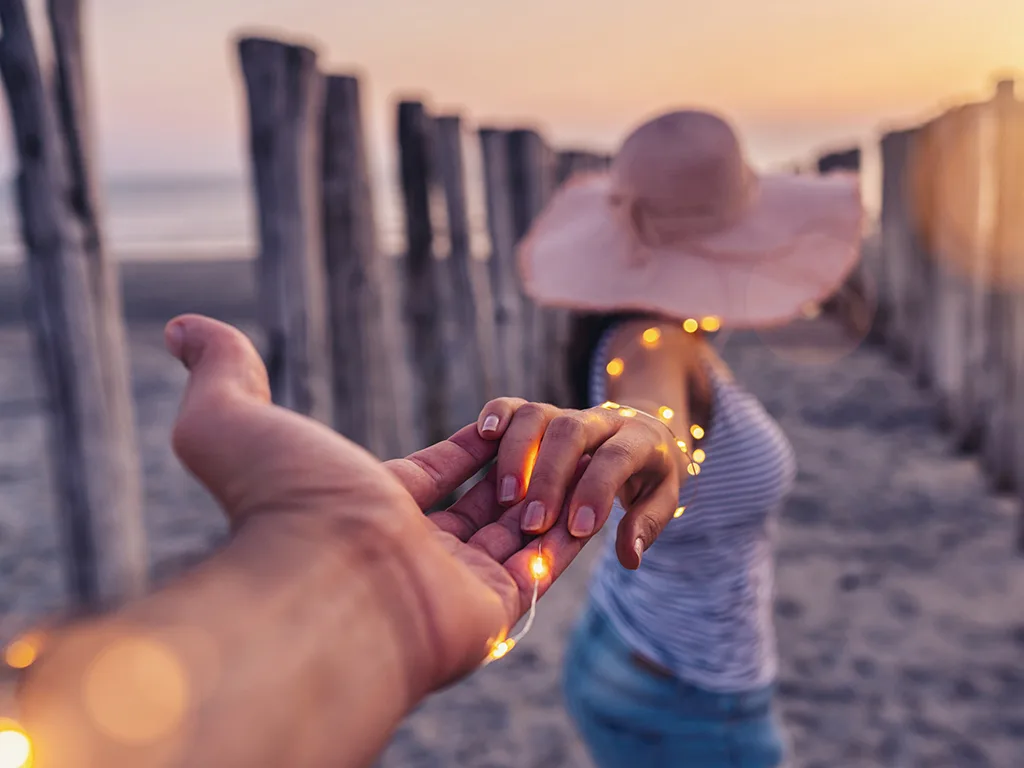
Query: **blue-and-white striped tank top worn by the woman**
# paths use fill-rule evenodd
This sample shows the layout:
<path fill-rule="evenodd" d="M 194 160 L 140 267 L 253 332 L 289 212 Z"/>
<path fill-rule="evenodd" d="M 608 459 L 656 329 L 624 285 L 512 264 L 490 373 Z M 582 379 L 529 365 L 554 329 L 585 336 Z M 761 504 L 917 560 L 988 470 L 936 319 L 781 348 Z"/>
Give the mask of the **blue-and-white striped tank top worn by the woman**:
<path fill-rule="evenodd" d="M 604 369 L 614 330 L 604 334 L 592 360 L 593 406 L 607 399 Z M 742 692 L 772 682 L 778 669 L 772 540 L 796 461 L 764 407 L 707 370 L 712 422 L 699 445 L 707 458 L 679 495 L 686 511 L 669 522 L 635 571 L 620 565 L 609 538 L 590 592 L 636 652 L 698 687 Z M 616 501 L 610 529 L 623 514 Z"/>

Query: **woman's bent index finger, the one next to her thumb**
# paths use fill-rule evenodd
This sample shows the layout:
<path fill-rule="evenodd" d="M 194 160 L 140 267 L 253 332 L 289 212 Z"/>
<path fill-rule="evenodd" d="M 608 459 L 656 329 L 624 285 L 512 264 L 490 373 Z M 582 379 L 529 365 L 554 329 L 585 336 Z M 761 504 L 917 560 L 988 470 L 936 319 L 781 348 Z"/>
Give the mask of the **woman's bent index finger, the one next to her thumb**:
<path fill-rule="evenodd" d="M 600 530 L 623 486 L 641 472 L 649 483 L 659 484 L 668 478 L 678 483 L 675 456 L 670 452 L 668 437 L 668 432 L 663 436 L 646 426 L 630 422 L 605 440 L 594 452 L 594 460 L 572 493 L 569 532 L 589 537 Z"/>

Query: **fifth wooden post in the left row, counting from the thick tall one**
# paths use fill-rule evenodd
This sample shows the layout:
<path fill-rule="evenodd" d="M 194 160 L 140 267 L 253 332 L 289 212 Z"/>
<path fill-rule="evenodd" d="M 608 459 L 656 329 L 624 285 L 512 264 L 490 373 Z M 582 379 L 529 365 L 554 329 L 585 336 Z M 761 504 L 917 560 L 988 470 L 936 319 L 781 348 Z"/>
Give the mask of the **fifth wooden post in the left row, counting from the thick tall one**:
<path fill-rule="evenodd" d="M 483 183 L 490 233 L 490 284 L 498 342 L 498 394 L 522 396 L 523 308 L 515 264 L 515 223 L 509 176 L 508 134 L 480 130 Z"/>

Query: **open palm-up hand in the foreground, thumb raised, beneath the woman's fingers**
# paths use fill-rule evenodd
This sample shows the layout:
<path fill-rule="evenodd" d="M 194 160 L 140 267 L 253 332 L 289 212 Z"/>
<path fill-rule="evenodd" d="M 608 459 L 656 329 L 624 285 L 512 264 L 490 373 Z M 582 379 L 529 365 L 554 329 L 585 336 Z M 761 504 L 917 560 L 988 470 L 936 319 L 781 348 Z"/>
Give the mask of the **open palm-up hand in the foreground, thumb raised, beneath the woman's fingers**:
<path fill-rule="evenodd" d="M 380 645 L 402 659 L 416 696 L 474 669 L 528 608 L 538 543 L 520 530 L 521 506 L 499 504 L 495 473 L 451 509 L 423 510 L 490 462 L 493 436 L 469 425 L 407 459 L 382 464 L 341 435 L 269 401 L 266 370 L 236 329 L 200 316 L 173 321 L 167 343 L 189 371 L 174 447 L 220 502 L 232 527 L 256 526 L 265 546 L 334 552 L 366 581 L 382 624 Z M 519 434 L 517 429 L 515 434 Z M 507 462 L 506 462 L 507 463 Z M 550 477 L 555 497 L 575 462 Z M 541 540 L 545 592 L 583 547 L 564 525 Z M 329 606 L 325 606 L 325 610 Z"/>

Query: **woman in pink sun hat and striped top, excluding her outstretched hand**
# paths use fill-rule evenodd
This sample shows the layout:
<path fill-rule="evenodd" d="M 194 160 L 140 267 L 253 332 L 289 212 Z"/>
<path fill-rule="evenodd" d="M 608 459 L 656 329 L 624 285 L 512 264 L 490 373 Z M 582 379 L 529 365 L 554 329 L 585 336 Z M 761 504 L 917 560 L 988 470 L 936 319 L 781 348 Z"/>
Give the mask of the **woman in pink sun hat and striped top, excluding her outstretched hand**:
<path fill-rule="evenodd" d="M 570 641 L 567 705 L 599 766 L 784 761 L 772 531 L 793 452 L 701 329 L 780 324 L 826 299 L 860 232 L 855 178 L 759 177 L 726 122 L 677 112 L 563 187 L 521 248 L 539 304 L 590 312 L 570 345 L 581 406 L 659 419 L 687 479 L 656 542 L 632 559 L 620 534 L 606 552 Z M 616 503 L 611 522 L 623 515 Z"/>

